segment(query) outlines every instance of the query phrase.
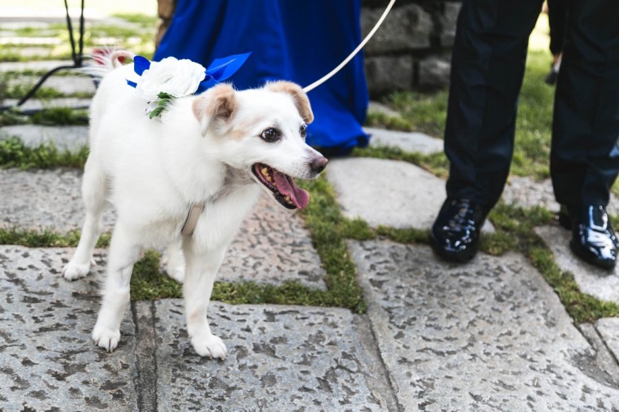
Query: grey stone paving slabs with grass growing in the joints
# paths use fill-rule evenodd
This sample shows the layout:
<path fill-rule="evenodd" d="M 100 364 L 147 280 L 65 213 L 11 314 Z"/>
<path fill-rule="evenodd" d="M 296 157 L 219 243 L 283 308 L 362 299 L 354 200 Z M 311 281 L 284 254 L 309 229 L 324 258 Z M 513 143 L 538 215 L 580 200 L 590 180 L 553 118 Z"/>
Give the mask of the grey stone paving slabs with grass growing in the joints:
<path fill-rule="evenodd" d="M 71 90 L 63 79 L 52 86 Z M 442 150 L 425 135 L 370 131 L 373 144 Z M 8 135 L 30 146 L 87 144 L 85 127 L 0 128 L 0 138 Z M 0 170 L 0 229 L 79 229 L 80 174 Z M 444 198 L 444 181 L 399 161 L 337 159 L 327 179 L 343 214 L 373 227 L 428 229 Z M 503 198 L 553 209 L 547 184 L 512 178 Z M 105 231 L 114 219 L 107 212 Z M 536 233 L 581 290 L 619 301 L 617 272 L 571 259 L 569 235 L 556 225 Z M 211 327 L 228 357 L 211 361 L 189 344 L 181 299 L 133 302 L 111 354 L 91 342 L 105 249 L 89 276 L 67 282 L 61 271 L 72 248 L 1 244 L 0 411 L 619 411 L 619 319 L 576 327 L 522 255 L 480 253 L 457 266 L 423 244 L 347 247 L 367 313 L 212 302 Z M 327 288 L 324 277 L 303 219 L 268 197 L 219 274 L 317 290 Z"/>

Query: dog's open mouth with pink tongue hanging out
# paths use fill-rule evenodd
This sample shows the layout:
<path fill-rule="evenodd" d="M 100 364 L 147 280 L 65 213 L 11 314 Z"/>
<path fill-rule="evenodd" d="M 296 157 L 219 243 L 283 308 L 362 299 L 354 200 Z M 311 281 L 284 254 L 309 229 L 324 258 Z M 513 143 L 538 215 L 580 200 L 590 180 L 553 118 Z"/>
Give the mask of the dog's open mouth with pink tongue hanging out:
<path fill-rule="evenodd" d="M 288 209 L 305 209 L 310 203 L 310 195 L 294 183 L 294 179 L 287 174 L 265 165 L 256 163 L 252 166 L 252 172 L 260 183 L 273 192 L 273 195 L 283 207 Z"/>

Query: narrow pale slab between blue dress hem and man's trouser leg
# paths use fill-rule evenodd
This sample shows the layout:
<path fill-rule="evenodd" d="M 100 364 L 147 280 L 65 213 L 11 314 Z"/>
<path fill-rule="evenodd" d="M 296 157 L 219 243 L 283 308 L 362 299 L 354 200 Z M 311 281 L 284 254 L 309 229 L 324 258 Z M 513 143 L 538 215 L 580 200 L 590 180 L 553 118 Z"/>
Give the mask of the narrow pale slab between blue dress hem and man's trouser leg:
<path fill-rule="evenodd" d="M 381 128 L 363 128 L 372 135 L 370 146 L 389 146 L 400 148 L 406 152 L 420 152 L 424 155 L 443 151 L 442 139 L 435 139 L 425 133 L 400 132 L 398 130 L 386 130 Z"/>

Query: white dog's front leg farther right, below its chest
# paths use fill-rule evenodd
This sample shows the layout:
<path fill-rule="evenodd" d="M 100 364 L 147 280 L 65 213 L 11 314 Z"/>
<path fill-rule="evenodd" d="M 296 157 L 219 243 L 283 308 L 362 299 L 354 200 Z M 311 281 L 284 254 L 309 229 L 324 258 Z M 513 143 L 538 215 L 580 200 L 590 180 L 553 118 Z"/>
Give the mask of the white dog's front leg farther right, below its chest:
<path fill-rule="evenodd" d="M 197 254 L 184 248 L 186 270 L 183 284 L 187 332 L 195 352 L 210 358 L 226 358 L 226 345 L 210 332 L 206 309 L 213 292 L 215 276 L 224 260 L 226 248 Z"/>

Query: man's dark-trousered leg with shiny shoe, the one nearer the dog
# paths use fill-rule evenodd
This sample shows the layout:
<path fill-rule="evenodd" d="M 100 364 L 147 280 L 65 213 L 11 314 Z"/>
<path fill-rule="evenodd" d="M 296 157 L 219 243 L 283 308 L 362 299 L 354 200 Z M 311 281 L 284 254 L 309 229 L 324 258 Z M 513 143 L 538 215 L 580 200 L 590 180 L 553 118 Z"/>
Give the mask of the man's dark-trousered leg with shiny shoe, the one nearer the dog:
<path fill-rule="evenodd" d="M 451 65 L 445 153 L 447 201 L 431 239 L 447 260 L 477 252 L 479 229 L 508 176 L 528 38 L 541 0 L 465 0 Z"/>

